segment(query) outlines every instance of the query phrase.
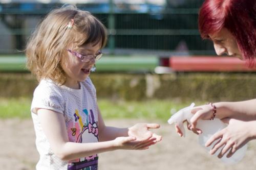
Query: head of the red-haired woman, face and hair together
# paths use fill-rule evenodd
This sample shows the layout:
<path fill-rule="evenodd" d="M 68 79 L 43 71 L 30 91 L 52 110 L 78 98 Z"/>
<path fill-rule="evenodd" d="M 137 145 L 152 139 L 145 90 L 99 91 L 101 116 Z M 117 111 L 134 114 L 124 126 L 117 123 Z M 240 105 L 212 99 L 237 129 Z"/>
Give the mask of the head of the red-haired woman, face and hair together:
<path fill-rule="evenodd" d="M 256 1 L 207 0 L 199 12 L 199 31 L 211 39 L 217 55 L 227 54 L 254 65 L 256 57 Z"/>

